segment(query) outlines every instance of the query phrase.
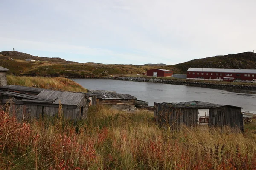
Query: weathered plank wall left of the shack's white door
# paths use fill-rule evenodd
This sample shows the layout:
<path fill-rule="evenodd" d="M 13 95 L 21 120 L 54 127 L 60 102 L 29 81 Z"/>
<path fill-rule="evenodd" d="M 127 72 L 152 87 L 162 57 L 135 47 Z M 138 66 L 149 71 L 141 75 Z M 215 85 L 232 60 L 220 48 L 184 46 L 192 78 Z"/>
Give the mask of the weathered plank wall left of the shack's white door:
<path fill-rule="evenodd" d="M 198 109 L 171 108 L 161 103 L 154 103 L 154 117 L 159 125 L 179 129 L 180 125 L 194 127 L 198 125 Z"/>

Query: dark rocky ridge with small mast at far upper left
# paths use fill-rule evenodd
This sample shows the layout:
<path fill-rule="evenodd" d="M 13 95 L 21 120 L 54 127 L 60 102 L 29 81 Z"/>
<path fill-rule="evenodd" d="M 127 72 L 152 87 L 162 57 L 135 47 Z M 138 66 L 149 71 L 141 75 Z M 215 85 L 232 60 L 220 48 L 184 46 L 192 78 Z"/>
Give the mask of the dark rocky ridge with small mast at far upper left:
<path fill-rule="evenodd" d="M 7 58 L 6 58 L 7 57 Z M 0 52 L 0 59 L 34 59 L 36 61 L 48 61 L 48 62 L 65 62 L 65 63 L 78 63 L 73 61 L 66 61 L 65 59 L 61 59 L 59 57 L 38 57 L 38 56 L 32 56 L 27 53 L 22 53 L 18 51 L 2 51 Z"/>

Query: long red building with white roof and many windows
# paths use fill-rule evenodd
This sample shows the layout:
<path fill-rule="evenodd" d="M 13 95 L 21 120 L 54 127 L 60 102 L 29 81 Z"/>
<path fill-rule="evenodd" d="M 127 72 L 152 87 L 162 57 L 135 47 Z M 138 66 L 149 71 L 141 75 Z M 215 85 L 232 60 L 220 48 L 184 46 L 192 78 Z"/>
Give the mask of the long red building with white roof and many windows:
<path fill-rule="evenodd" d="M 189 68 L 187 79 L 198 80 L 253 80 L 256 78 L 256 70 L 249 69 L 222 69 L 222 68 Z"/>

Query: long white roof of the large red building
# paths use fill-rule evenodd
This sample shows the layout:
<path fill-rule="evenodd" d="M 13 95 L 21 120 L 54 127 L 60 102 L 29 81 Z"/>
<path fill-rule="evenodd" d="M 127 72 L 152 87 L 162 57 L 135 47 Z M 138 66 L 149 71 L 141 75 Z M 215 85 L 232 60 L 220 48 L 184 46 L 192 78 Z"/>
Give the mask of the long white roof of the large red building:
<path fill-rule="evenodd" d="M 255 73 L 256 74 L 256 69 L 189 68 L 188 71 L 222 72 L 222 73 Z"/>

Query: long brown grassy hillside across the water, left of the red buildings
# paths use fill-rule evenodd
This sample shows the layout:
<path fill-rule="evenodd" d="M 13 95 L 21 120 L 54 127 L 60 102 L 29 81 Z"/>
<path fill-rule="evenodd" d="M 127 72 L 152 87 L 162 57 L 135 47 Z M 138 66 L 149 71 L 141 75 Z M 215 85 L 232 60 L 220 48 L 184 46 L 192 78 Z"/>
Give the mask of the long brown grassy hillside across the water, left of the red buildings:
<path fill-rule="evenodd" d="M 26 62 L 26 58 L 35 59 L 35 62 Z M 101 63 L 74 63 L 60 58 L 35 57 L 17 51 L 0 52 L 0 66 L 8 68 L 9 74 L 16 76 L 43 76 L 43 77 L 108 77 L 119 75 L 137 75 L 148 69 L 161 68 L 180 73 L 180 70 L 170 65 L 122 65 Z"/>

